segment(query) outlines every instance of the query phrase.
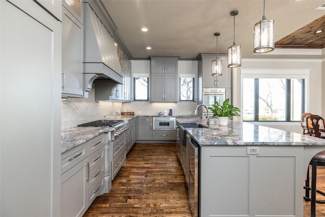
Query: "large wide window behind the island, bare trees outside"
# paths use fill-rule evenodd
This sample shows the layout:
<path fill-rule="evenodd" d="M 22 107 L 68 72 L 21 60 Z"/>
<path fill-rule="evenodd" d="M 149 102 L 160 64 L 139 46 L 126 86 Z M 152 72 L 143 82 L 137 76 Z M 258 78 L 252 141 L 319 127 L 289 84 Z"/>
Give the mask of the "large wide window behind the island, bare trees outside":
<path fill-rule="evenodd" d="M 243 121 L 300 121 L 307 79 L 297 73 L 282 73 L 243 73 Z"/>

